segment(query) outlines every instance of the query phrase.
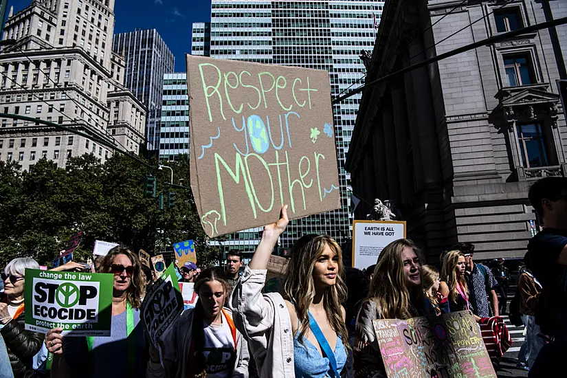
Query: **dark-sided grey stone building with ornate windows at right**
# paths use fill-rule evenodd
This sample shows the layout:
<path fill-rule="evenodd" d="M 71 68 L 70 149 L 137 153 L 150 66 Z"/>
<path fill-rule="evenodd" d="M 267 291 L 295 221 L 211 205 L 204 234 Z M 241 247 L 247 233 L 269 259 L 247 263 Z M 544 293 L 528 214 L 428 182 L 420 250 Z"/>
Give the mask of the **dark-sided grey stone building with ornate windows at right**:
<path fill-rule="evenodd" d="M 366 82 L 542 23 L 544 3 L 386 1 Z M 548 5 L 548 16 L 567 15 L 565 1 Z M 529 186 L 567 175 L 557 91 L 567 25 L 557 34 L 557 43 L 548 30 L 524 34 L 366 89 L 346 159 L 353 192 L 363 199 L 355 219 L 365 219 L 373 199 L 389 199 L 432 263 L 457 242 L 474 243 L 479 260 L 523 256 L 540 228 Z"/>

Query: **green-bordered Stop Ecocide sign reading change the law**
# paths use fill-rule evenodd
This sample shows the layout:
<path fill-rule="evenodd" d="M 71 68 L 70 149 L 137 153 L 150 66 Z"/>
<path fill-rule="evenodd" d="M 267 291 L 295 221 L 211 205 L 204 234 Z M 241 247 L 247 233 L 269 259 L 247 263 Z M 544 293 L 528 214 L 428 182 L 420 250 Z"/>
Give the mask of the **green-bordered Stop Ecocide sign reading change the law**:
<path fill-rule="evenodd" d="M 110 336 L 112 274 L 25 269 L 25 329 Z"/>

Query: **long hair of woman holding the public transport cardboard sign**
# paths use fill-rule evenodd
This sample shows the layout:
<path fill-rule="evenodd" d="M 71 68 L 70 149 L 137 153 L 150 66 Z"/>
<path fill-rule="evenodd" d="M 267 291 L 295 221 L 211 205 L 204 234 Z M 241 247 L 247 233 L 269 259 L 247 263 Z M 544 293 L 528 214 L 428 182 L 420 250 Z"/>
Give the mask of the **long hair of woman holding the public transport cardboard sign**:
<path fill-rule="evenodd" d="M 401 258 L 405 247 L 413 249 L 420 264 L 423 262 L 421 252 L 412 241 L 409 239 L 392 241 L 380 252 L 370 282 L 368 298 L 375 302 L 378 313 L 384 319 L 412 318 L 417 315 L 412 313 L 412 304 L 423 307 L 423 285 L 410 289 L 406 283 Z"/>

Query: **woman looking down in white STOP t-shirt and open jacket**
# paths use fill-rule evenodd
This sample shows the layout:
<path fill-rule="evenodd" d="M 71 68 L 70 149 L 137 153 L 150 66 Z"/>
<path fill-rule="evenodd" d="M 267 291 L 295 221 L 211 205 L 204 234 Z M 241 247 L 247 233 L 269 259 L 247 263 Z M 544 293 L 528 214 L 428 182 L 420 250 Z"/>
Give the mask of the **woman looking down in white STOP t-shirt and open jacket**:
<path fill-rule="evenodd" d="M 159 340 L 162 361 L 153 347 L 147 377 L 248 377 L 248 349 L 224 309 L 230 286 L 219 268 L 199 274 L 199 300 Z"/>

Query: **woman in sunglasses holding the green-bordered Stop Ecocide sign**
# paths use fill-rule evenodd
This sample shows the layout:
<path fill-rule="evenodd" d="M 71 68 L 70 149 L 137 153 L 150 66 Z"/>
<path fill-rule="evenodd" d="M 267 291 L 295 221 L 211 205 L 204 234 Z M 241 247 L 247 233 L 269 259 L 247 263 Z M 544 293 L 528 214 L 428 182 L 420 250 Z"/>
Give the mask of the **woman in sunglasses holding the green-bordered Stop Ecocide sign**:
<path fill-rule="evenodd" d="M 65 356 L 71 377 L 144 377 L 148 353 L 140 305 L 146 285 L 140 260 L 130 249 L 114 247 L 98 272 L 114 275 L 111 336 L 63 337 L 63 329 L 55 328 L 45 337 L 47 350 Z"/>

